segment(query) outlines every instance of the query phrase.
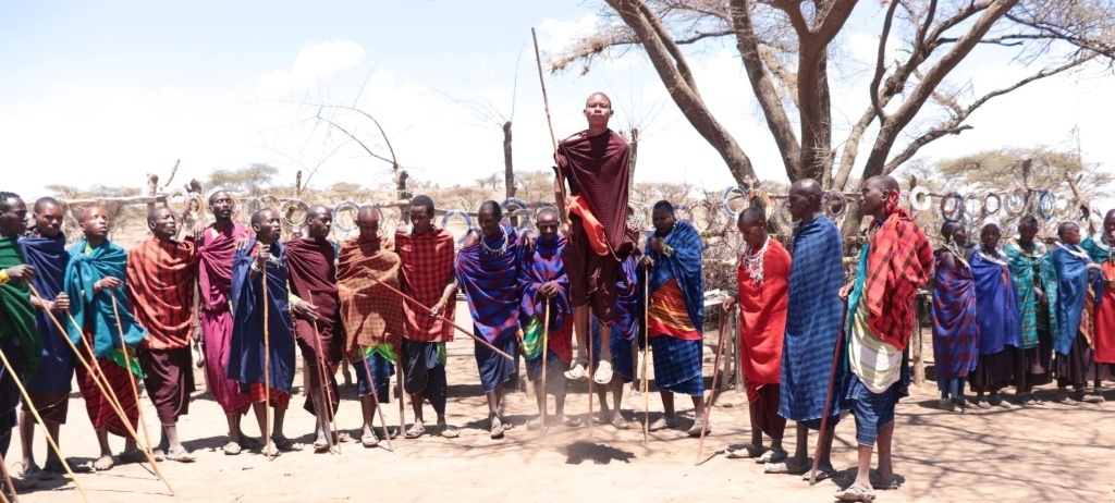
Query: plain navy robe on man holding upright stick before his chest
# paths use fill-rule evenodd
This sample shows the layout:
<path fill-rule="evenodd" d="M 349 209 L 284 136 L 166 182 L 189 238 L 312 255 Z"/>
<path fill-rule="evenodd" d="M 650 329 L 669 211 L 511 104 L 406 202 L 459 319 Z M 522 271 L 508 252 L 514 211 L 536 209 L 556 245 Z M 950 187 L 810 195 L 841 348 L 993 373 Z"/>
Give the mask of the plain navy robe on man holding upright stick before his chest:
<path fill-rule="evenodd" d="M 251 265 L 256 241 L 237 250 L 232 259 L 232 339 L 229 341 L 230 379 L 236 379 L 245 393 L 252 383 L 263 383 L 263 281 L 251 280 Z M 268 336 L 270 342 L 270 388 L 290 394 L 294 385 L 294 330 L 287 303 L 287 249 L 271 244 L 271 257 L 278 263 L 266 265 Z"/>

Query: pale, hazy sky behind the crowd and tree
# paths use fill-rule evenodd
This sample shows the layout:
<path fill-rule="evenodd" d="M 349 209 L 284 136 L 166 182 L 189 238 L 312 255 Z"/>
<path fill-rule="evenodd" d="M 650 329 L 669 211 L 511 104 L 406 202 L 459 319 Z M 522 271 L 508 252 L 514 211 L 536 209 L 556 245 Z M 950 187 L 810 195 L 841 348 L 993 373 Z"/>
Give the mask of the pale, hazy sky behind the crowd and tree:
<path fill-rule="evenodd" d="M 531 27 L 556 54 L 597 26 L 593 2 L 558 1 L 192 1 L 0 3 L 0 170 L 3 190 L 45 195 L 49 184 L 143 186 L 146 173 L 175 185 L 213 168 L 268 163 L 279 183 L 303 170 L 311 187 L 337 182 L 378 186 L 389 164 L 317 119 L 334 122 L 411 176 L 440 186 L 472 185 L 503 172 L 502 132 L 513 122 L 518 171 L 551 165 Z M 879 4 L 861 2 L 834 68 L 834 124 L 841 142 L 867 104 Z M 545 56 L 543 56 L 545 57 Z M 709 107 L 744 147 L 759 176 L 784 181 L 770 133 L 734 47 L 690 58 Z M 970 93 L 1027 72 L 1001 51 L 980 49 L 957 70 Z M 584 127 L 584 99 L 601 90 L 613 126 L 642 130 L 637 182 L 687 182 L 709 191 L 731 177 L 712 147 L 681 116 L 644 56 L 633 51 L 546 74 L 558 137 Z M 973 114 L 975 129 L 921 151 L 932 161 L 998 147 L 1051 145 L 1115 166 L 1107 125 L 1115 77 L 1098 69 L 1034 84 Z M 320 112 L 319 112 L 320 110 Z M 928 120 L 931 117 L 919 117 Z M 866 157 L 865 142 L 861 159 Z M 312 176 L 310 175 L 312 173 Z"/>

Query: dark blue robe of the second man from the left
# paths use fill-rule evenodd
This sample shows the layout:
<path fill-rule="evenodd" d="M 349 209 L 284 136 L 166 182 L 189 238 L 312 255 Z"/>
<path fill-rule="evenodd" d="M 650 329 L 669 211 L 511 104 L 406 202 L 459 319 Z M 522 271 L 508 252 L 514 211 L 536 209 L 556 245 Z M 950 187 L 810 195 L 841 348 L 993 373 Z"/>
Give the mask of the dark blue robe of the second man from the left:
<path fill-rule="evenodd" d="M 38 272 L 31 284 L 42 296 L 42 300 L 54 300 L 62 292 L 66 267 L 69 264 L 66 236 L 23 238 L 19 240 L 19 244 L 23 249 L 23 260 Z M 66 313 L 56 313 L 55 318 L 62 327 L 69 325 Z M 42 358 L 39 359 L 38 369 L 23 384 L 31 393 L 68 393 L 74 379 L 74 351 L 62 340 L 66 335 L 58 330 L 58 326 L 41 309 L 35 310 L 35 325 L 42 339 Z"/>

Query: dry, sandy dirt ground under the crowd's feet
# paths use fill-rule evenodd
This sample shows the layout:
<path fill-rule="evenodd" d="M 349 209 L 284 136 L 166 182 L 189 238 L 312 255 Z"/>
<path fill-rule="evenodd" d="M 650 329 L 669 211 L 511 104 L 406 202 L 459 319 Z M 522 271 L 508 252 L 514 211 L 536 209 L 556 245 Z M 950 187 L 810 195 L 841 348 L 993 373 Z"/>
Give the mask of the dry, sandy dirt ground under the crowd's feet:
<path fill-rule="evenodd" d="M 467 319 L 458 311 L 457 319 Z M 711 376 L 716 333 L 706 335 L 705 375 Z M 928 337 L 927 337 L 928 339 Z M 535 414 L 533 395 L 512 393 L 506 400 L 506 416 L 516 425 L 502 441 L 488 438 L 485 410 L 473 344 L 458 339 L 449 345 L 448 418 L 462 428 L 459 438 L 425 436 L 396 439 L 395 452 L 387 444 L 366 449 L 356 443 L 341 444 L 340 454 L 313 454 L 310 451 L 287 453 L 266 461 L 258 453 L 226 456 L 225 420 L 220 407 L 204 391 L 203 374 L 197 370 L 200 391 L 191 404 L 190 415 L 180 423 L 187 448 L 197 456 L 192 464 L 161 463 L 173 485 L 171 497 L 162 482 L 146 465 L 117 466 L 109 472 L 78 475 L 94 502 L 172 502 L 172 501 L 833 501 L 841 486 L 851 483 L 855 466 L 855 427 L 851 417 L 836 429 L 833 463 L 841 474 L 832 481 L 809 486 L 798 476 L 765 475 L 762 465 L 746 460 L 724 457 L 729 444 L 749 439 L 745 395 L 728 390 L 717 398 L 711 413 L 712 433 L 708 437 L 700 465 L 697 441 L 682 431 L 653 433 L 642 443 L 639 423 L 630 431 L 597 425 L 568 429 L 555 427 L 547 438 L 529 432 L 526 419 Z M 929 350 L 928 354 L 932 351 Z M 710 377 L 706 378 L 706 385 Z M 301 383 L 297 378 L 295 383 Z M 898 409 L 895 432 L 895 471 L 904 484 L 898 491 L 878 492 L 876 501 L 1115 501 L 1115 391 L 1107 385 L 1106 405 L 1043 407 L 948 413 L 937 408 L 932 385 L 913 388 L 912 396 Z M 588 410 L 586 385 L 579 383 L 566 410 L 583 415 Z M 70 398 L 68 423 L 62 428 L 62 448 L 77 462 L 89 461 L 97 453 L 94 432 L 84 403 L 75 393 Z M 628 395 L 630 387 L 628 388 Z M 1039 397 L 1051 402 L 1053 390 Z M 338 414 L 340 427 L 359 436 L 359 406 L 355 387 L 342 387 Z M 394 396 L 392 396 L 394 398 Z M 148 424 L 155 410 L 144 397 Z M 677 400 L 685 417 L 681 427 L 691 424 L 692 406 Z M 312 417 L 301 409 L 302 397 L 291 402 L 287 434 L 309 443 Z M 629 419 L 642 420 L 643 396 L 626 396 L 622 408 Z M 551 407 L 552 407 L 551 399 Z M 426 406 L 427 417 L 433 417 Z M 599 407 L 599 404 L 597 405 Z M 651 420 L 661 410 L 657 393 L 650 399 Z M 398 404 L 385 408 L 388 424 L 398 423 Z M 407 404 L 408 420 L 413 419 Z M 251 416 L 244 420 L 250 435 L 259 435 Z M 793 424 L 787 429 L 786 447 L 793 449 Z M 158 432 L 151 435 L 157 442 Z M 113 447 L 123 446 L 113 438 Z M 815 437 L 811 437 L 811 443 Z M 41 434 L 35 453 L 41 463 L 46 454 Z M 19 470 L 19 439 L 12 439 L 8 465 Z M 65 480 L 43 482 L 37 490 L 23 492 L 25 502 L 78 502 L 81 495 Z"/>

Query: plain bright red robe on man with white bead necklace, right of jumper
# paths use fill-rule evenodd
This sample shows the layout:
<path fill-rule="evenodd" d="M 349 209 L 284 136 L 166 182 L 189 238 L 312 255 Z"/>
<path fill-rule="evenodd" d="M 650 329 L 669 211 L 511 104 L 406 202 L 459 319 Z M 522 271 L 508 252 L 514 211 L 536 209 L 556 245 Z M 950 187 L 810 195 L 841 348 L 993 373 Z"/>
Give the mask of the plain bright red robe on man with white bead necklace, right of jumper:
<path fill-rule="evenodd" d="M 786 335 L 786 309 L 789 307 L 789 252 L 772 239 L 763 255 L 763 286 L 752 281 L 750 270 L 743 259 L 736 268 L 740 365 L 750 402 L 758 399 L 758 390 L 764 385 L 777 385 L 782 379 L 782 345 Z"/>

